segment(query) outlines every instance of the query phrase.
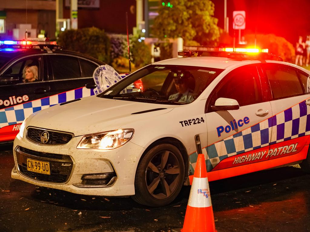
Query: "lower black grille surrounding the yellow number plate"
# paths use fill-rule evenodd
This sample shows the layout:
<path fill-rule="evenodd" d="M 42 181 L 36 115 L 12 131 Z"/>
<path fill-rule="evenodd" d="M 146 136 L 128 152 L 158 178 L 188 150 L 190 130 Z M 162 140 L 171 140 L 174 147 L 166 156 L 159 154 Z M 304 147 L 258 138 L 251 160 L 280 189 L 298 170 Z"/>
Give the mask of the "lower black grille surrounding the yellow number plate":
<path fill-rule="evenodd" d="M 73 161 L 68 155 L 37 152 L 23 147 L 17 147 L 15 154 L 18 169 L 26 177 L 49 183 L 65 183 L 70 177 Z M 49 162 L 51 174 L 47 175 L 27 170 L 27 158 Z"/>

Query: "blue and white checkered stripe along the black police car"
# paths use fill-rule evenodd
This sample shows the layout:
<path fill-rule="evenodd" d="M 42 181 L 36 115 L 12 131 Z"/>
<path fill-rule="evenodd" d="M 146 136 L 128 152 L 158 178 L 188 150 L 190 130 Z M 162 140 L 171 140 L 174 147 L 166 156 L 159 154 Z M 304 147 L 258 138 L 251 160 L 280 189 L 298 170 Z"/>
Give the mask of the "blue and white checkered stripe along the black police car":
<path fill-rule="evenodd" d="M 121 74 L 121 77 L 124 78 L 127 75 L 128 74 Z M 39 110 L 46 109 L 50 106 L 92 95 L 94 95 L 93 89 L 82 87 L 69 90 L 67 92 L 55 94 L 53 96 L 44 97 L 33 101 L 27 101 L 19 105 L 14 105 L 5 109 L 1 109 L 0 128 L 21 123 L 30 114 Z"/>

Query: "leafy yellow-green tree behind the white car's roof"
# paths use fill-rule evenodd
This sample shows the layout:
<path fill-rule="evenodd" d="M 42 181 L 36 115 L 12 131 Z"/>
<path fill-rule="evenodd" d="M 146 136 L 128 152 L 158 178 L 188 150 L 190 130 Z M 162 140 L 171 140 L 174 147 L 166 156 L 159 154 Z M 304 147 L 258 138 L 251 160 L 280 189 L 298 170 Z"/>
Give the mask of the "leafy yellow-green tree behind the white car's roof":
<path fill-rule="evenodd" d="M 201 45 L 213 45 L 219 37 L 218 19 L 210 0 L 170 0 L 173 7 L 160 3 L 154 19 L 153 34 L 159 39 L 182 37 Z"/>

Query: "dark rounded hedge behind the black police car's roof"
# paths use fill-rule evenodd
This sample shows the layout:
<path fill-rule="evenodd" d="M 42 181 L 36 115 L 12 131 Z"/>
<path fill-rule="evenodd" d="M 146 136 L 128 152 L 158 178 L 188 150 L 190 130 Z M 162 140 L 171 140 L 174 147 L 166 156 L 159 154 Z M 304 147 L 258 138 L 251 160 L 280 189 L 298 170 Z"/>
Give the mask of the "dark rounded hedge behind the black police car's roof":
<path fill-rule="evenodd" d="M 98 28 L 82 28 L 61 32 L 58 44 L 66 50 L 87 54 L 106 63 L 111 62 L 110 39 L 104 30 Z"/>

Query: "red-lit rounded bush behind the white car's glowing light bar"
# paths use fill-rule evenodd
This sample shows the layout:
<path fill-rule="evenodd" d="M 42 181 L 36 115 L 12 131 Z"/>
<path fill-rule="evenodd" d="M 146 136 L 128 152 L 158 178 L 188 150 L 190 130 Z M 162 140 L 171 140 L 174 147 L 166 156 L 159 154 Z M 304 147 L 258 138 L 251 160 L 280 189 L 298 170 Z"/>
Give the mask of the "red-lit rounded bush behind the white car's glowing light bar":
<path fill-rule="evenodd" d="M 246 35 L 248 45 L 255 45 L 255 34 Z M 257 34 L 256 45 L 259 48 L 268 48 L 268 52 L 280 56 L 284 61 L 293 62 L 295 57 L 294 46 L 283 37 L 274 34 Z"/>

